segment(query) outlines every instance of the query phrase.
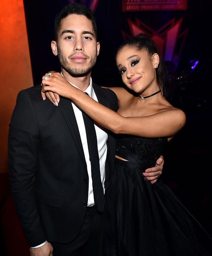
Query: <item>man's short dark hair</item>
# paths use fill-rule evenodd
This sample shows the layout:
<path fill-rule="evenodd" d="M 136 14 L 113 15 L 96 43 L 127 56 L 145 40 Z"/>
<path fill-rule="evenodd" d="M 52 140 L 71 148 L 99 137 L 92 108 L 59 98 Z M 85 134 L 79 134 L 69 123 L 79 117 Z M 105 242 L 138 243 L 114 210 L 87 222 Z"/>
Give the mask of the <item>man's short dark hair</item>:
<path fill-rule="evenodd" d="M 73 4 L 70 3 L 68 5 L 65 5 L 55 17 L 55 30 L 54 30 L 55 41 L 57 42 L 58 40 L 58 32 L 61 27 L 61 20 L 71 14 L 84 15 L 85 17 L 90 19 L 90 21 L 92 22 L 96 40 L 97 40 L 97 26 L 96 26 L 96 19 L 95 19 L 94 13 L 86 5 L 83 5 L 80 3 L 73 3 Z"/>

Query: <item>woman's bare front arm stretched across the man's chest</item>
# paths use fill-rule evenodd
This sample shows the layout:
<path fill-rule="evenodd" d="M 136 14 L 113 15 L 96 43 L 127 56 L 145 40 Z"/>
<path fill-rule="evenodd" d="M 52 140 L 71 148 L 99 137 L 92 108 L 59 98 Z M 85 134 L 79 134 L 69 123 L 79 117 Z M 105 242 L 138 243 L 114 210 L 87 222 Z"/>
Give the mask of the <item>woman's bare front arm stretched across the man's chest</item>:
<path fill-rule="evenodd" d="M 114 133 L 141 137 L 172 137 L 185 124 L 186 116 L 180 109 L 171 109 L 151 116 L 123 117 L 96 102 L 81 90 L 71 86 L 59 73 L 51 74 L 48 81 L 42 80 L 43 92 L 51 91 L 71 99 L 94 121 Z"/>

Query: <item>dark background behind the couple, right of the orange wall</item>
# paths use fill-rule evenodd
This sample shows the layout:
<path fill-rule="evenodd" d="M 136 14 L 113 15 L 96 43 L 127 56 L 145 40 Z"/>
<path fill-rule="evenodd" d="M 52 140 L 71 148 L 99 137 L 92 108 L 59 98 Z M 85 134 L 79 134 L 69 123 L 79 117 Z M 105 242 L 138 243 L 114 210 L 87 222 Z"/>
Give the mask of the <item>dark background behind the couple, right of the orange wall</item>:
<path fill-rule="evenodd" d="M 68 2 L 24 1 L 34 84 L 40 83 L 42 75 L 50 70 L 60 71 L 58 59 L 51 52 L 51 40 L 55 15 Z M 121 31 L 131 34 L 128 19 L 135 22 L 137 18 L 157 30 L 173 18 L 183 18 L 181 30 L 189 30 L 178 66 L 173 68 L 172 63 L 167 63 L 168 100 L 185 111 L 187 123 L 164 152 L 163 178 L 212 233 L 210 2 L 188 0 L 184 11 L 122 12 L 121 0 L 100 0 L 95 16 L 101 50 L 92 79 L 104 86 L 123 85 L 114 57 L 124 40 Z M 191 60 L 199 61 L 194 70 Z"/>

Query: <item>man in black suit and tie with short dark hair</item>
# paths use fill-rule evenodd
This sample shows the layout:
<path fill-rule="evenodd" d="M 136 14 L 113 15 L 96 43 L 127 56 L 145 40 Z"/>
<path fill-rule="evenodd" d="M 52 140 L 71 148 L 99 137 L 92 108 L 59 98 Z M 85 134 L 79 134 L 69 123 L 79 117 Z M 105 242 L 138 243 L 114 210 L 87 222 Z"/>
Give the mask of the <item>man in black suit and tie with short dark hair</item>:
<path fill-rule="evenodd" d="M 114 92 L 91 80 L 100 44 L 94 15 L 85 5 L 68 4 L 56 16 L 51 47 L 70 83 L 118 109 Z M 55 108 L 41 99 L 40 90 L 37 85 L 19 92 L 9 130 L 11 190 L 31 255 L 53 255 L 53 248 L 54 256 L 98 255 L 104 193 L 114 168 L 114 138 L 94 126 L 95 154 L 84 113 L 65 98 L 55 102 Z M 97 155 L 99 177 L 94 177 L 92 159 Z M 161 170 L 156 166 L 147 177 L 157 179 Z"/>

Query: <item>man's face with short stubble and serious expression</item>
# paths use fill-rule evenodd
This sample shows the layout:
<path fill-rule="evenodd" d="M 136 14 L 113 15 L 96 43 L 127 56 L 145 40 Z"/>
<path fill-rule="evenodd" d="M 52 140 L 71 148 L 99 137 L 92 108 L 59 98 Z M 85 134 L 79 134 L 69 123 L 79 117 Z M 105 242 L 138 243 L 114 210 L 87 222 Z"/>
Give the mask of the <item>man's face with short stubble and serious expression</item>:
<path fill-rule="evenodd" d="M 99 54 L 93 25 L 84 15 L 71 14 L 61 20 L 58 42 L 52 41 L 54 55 L 71 76 L 81 77 L 91 72 Z"/>

